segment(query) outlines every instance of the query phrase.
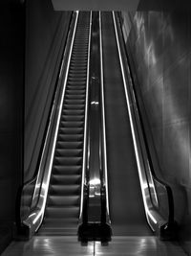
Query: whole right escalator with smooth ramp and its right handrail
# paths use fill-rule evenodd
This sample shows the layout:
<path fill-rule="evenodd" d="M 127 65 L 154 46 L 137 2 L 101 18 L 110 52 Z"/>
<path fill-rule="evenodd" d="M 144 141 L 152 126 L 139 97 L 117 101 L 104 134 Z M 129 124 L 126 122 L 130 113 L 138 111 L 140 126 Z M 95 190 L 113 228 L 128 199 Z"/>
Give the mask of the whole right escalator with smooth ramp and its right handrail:
<path fill-rule="evenodd" d="M 177 222 L 174 220 L 173 194 L 153 168 L 153 156 L 147 145 L 122 36 L 120 14 L 102 12 L 101 21 L 113 234 L 153 236 L 155 233 L 162 240 L 175 239 Z"/>

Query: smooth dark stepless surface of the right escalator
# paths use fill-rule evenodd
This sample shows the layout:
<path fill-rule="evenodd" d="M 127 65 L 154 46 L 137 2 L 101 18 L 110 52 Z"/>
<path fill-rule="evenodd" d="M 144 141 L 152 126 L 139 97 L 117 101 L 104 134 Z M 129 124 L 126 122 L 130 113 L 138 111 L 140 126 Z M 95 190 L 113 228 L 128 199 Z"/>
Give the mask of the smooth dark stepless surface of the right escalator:
<path fill-rule="evenodd" d="M 106 136 L 113 234 L 152 235 L 146 222 L 112 12 L 102 13 Z M 112 70 L 112 72 L 111 72 Z"/>

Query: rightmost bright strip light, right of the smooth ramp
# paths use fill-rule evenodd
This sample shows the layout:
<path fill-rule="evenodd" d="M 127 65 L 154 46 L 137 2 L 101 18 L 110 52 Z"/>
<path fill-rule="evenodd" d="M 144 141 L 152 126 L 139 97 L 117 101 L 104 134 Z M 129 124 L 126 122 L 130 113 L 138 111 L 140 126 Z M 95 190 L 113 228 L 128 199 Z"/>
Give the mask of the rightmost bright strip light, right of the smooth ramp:
<path fill-rule="evenodd" d="M 142 192 L 144 209 L 145 209 L 145 212 L 146 212 L 146 216 L 148 215 L 151 218 L 151 220 L 155 224 L 157 224 L 158 221 L 152 215 L 152 213 L 150 212 L 150 209 L 149 209 L 149 207 L 147 205 L 147 199 L 146 199 L 145 192 L 144 192 L 145 184 L 144 184 L 143 177 L 142 177 L 142 174 L 141 174 L 140 159 L 139 159 L 139 155 L 138 155 L 137 139 L 136 139 L 136 134 L 135 134 L 135 130 L 134 130 L 134 123 L 133 123 L 133 117 L 132 117 L 132 113 L 131 113 L 129 95 L 128 95 L 128 92 L 127 92 L 127 83 L 126 83 L 126 80 L 125 80 L 124 68 L 123 68 L 123 64 L 122 64 L 121 52 L 120 52 L 120 47 L 119 47 L 118 35 L 117 35 L 117 23 L 116 23 L 116 17 L 115 17 L 114 11 L 113 11 L 113 20 L 114 20 L 115 33 L 116 33 L 116 38 L 117 38 L 118 57 L 119 57 L 119 61 L 120 61 L 123 85 L 124 85 L 124 89 L 125 89 L 126 102 L 127 102 L 128 112 L 129 112 L 131 131 L 132 131 L 132 136 L 133 136 L 133 141 L 134 141 L 134 149 L 135 149 L 137 165 L 138 165 L 138 175 L 139 175 L 139 180 L 140 180 L 140 187 L 141 187 L 141 192 Z M 151 226 L 151 228 L 153 229 L 152 226 Z"/>

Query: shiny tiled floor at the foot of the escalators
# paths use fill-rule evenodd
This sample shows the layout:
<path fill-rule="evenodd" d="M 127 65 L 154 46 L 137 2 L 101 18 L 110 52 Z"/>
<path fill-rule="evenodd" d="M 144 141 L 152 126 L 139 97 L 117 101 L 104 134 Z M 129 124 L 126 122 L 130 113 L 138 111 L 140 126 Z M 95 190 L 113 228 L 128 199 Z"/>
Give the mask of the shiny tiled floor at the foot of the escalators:
<path fill-rule="evenodd" d="M 178 244 L 160 242 L 156 237 L 113 237 L 109 244 L 82 245 L 76 237 L 33 237 L 29 242 L 12 242 L 2 256 L 183 256 Z"/>

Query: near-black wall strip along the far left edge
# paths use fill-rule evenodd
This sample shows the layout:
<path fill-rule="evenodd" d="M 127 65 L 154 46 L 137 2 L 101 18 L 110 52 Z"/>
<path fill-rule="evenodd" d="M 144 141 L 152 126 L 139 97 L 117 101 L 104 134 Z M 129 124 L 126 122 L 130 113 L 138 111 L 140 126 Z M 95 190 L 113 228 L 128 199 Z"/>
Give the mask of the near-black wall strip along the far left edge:
<path fill-rule="evenodd" d="M 22 183 L 24 7 L 0 3 L 0 253 L 10 243 Z"/>

